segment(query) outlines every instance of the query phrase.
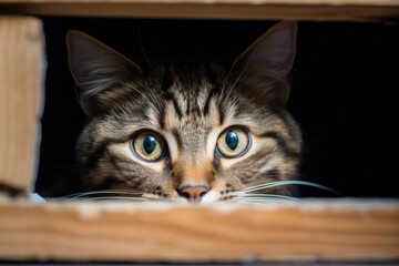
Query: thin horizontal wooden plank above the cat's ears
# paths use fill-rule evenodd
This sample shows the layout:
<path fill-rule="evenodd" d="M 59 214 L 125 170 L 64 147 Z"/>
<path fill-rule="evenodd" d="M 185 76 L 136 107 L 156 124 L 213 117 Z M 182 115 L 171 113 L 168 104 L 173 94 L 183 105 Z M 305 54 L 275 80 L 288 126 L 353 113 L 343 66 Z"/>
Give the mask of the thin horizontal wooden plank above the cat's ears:
<path fill-rule="evenodd" d="M 0 0 L 7 13 L 180 19 L 398 21 L 397 0 Z"/>

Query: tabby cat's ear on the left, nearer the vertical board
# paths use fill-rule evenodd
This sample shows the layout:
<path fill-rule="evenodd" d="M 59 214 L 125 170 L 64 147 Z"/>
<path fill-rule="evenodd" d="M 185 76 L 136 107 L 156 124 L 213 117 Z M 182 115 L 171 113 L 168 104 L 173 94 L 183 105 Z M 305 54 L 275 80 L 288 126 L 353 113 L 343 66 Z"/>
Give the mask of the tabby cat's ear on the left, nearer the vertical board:
<path fill-rule="evenodd" d="M 109 90 L 142 73 L 137 64 L 81 31 L 68 32 L 66 48 L 79 102 L 88 115 L 106 108 Z"/>

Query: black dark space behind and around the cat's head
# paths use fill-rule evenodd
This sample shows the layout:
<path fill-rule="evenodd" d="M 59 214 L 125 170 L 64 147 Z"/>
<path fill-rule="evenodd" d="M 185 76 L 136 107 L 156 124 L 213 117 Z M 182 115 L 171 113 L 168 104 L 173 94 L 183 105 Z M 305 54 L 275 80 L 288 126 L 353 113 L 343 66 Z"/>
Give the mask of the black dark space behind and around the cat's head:
<path fill-rule="evenodd" d="M 57 196 L 74 168 L 84 124 L 64 37 L 79 29 L 139 64 L 175 58 L 233 61 L 275 21 L 42 18 L 47 92 L 37 191 Z M 397 25 L 299 22 L 289 110 L 301 126 L 300 180 L 345 196 L 398 197 Z M 66 174 L 65 174 L 66 173 Z M 304 190 L 304 196 L 334 196 Z"/>

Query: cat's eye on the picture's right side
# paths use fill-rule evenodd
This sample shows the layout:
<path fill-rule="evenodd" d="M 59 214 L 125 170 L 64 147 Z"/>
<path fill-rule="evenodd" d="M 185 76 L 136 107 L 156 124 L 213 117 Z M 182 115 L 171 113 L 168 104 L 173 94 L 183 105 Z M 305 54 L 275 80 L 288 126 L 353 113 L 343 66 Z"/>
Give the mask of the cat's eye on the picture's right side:
<path fill-rule="evenodd" d="M 223 131 L 216 142 L 216 151 L 225 157 L 244 155 L 250 143 L 249 133 L 241 126 L 232 126 Z"/>

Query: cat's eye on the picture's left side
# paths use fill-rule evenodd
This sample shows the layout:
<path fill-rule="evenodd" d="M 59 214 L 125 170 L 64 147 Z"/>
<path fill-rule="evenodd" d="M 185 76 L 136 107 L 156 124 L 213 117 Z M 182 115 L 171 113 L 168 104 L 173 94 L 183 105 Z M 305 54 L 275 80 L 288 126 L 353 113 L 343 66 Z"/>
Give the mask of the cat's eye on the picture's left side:
<path fill-rule="evenodd" d="M 166 152 L 165 142 L 153 131 L 142 131 L 131 140 L 133 153 L 144 161 L 156 162 Z"/>

